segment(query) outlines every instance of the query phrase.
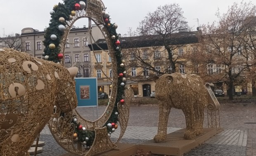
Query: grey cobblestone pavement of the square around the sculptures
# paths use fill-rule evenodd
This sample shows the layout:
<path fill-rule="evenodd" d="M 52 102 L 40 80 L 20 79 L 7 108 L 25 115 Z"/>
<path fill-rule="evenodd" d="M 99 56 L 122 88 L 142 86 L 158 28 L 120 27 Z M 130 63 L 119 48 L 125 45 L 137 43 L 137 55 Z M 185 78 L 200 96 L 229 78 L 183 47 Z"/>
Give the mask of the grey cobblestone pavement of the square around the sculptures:
<path fill-rule="evenodd" d="M 104 106 L 98 107 L 98 116 L 102 115 L 104 109 Z M 86 119 L 96 119 L 96 108 L 78 108 L 78 112 Z M 157 106 L 131 106 L 128 128 L 121 142 L 140 144 L 151 140 L 157 133 L 157 124 Z M 220 125 L 224 129 L 222 132 L 184 156 L 256 156 L 256 103 L 221 104 Z M 204 127 L 207 126 L 205 115 Z M 172 108 L 168 133 L 184 127 L 183 112 Z M 119 128 L 111 134 L 111 139 L 118 136 Z M 59 156 L 66 153 L 52 138 L 47 126 L 40 133 L 40 141 L 44 141 L 45 145 L 43 152 L 37 156 Z"/>

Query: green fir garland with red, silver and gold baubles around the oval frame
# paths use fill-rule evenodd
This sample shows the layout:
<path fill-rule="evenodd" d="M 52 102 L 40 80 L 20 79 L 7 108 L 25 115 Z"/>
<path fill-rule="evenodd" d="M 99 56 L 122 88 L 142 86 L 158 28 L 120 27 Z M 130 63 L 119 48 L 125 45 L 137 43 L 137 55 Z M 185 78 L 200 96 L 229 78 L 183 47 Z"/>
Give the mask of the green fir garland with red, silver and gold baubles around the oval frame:
<path fill-rule="evenodd" d="M 51 12 L 51 20 L 49 27 L 47 28 L 45 32 L 45 41 L 43 41 L 43 44 L 45 46 L 44 53 L 43 53 L 43 58 L 45 60 L 50 60 L 55 63 L 61 62 L 61 58 L 58 57 L 58 54 L 60 53 L 60 41 L 62 40 L 63 36 L 63 31 L 59 30 L 59 25 L 64 25 L 66 26 L 66 23 L 59 21 L 60 17 L 63 17 L 65 21 L 70 20 L 70 14 L 71 11 L 74 9 L 74 5 L 76 3 L 79 3 L 80 1 L 85 2 L 86 0 L 64 0 L 64 4 L 59 3 L 58 5 L 55 5 L 53 8 L 53 11 Z M 104 17 L 105 21 L 105 27 L 107 28 L 110 36 L 109 38 L 112 39 L 112 44 L 114 48 L 116 49 L 115 56 L 118 64 L 118 74 L 119 74 L 119 79 L 118 79 L 118 88 L 117 88 L 117 97 L 116 97 L 116 102 L 115 106 L 113 109 L 113 112 L 111 116 L 109 117 L 107 123 L 104 124 L 104 126 L 107 126 L 108 133 L 114 132 L 114 129 L 116 128 L 115 125 L 118 122 L 118 108 L 117 104 L 119 102 L 123 103 L 123 96 L 124 96 L 124 85 L 120 85 L 121 83 L 125 84 L 126 79 L 125 79 L 125 68 L 123 65 L 124 61 L 122 60 L 122 55 L 121 55 L 121 48 L 119 46 L 119 35 L 116 33 L 116 28 L 117 25 L 115 23 L 111 23 L 109 15 L 106 14 L 104 10 L 102 10 L 102 14 Z M 56 39 L 51 39 L 51 35 L 55 34 Z M 54 44 L 55 48 L 51 48 L 50 44 Z M 95 132 L 94 131 L 88 131 L 83 126 L 80 124 L 80 122 L 77 121 L 76 117 L 73 118 L 72 123 L 75 125 L 75 133 L 77 135 L 77 140 L 82 142 L 82 145 L 84 147 L 90 148 L 92 145 L 94 138 L 95 138 Z M 110 126 L 111 125 L 111 126 Z M 113 129 L 114 128 L 114 129 Z M 74 134 L 75 134 L 74 133 Z M 76 136 L 74 135 L 74 136 Z M 74 138 L 75 139 L 75 138 Z"/>

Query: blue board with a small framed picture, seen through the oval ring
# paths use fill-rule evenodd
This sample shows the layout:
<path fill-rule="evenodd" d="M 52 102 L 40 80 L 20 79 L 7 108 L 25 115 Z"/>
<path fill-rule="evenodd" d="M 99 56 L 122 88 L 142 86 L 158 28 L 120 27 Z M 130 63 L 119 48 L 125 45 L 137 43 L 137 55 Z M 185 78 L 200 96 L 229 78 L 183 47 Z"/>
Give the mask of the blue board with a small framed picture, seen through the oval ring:
<path fill-rule="evenodd" d="M 97 107 L 97 78 L 75 78 L 77 107 Z"/>

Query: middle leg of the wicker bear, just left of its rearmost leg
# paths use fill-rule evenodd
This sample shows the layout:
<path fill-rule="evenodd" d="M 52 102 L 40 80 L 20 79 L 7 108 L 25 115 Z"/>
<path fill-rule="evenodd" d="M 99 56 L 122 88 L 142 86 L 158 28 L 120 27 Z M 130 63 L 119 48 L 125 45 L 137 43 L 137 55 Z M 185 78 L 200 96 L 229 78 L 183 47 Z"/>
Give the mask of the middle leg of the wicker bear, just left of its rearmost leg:
<path fill-rule="evenodd" d="M 195 116 L 194 116 L 194 108 L 193 106 L 186 106 L 183 109 L 183 113 L 186 119 L 186 131 L 184 134 L 185 139 L 194 139 L 196 137 L 194 124 L 195 124 Z"/>

